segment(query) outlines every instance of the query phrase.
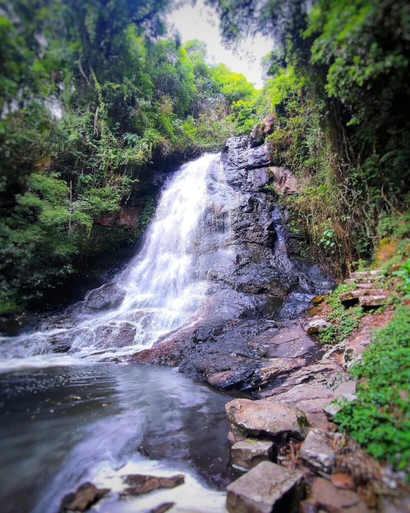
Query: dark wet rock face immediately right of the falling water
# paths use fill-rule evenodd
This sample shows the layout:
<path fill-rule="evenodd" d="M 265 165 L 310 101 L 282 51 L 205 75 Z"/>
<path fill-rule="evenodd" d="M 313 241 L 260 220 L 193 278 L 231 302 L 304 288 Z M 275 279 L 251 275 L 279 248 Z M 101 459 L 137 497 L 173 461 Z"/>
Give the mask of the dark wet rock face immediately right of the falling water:
<path fill-rule="evenodd" d="M 178 365 L 216 388 L 247 391 L 284 379 L 300 367 L 297 359 L 318 357 L 320 348 L 298 323 L 279 323 L 289 324 L 331 288 L 325 274 L 300 257 L 306 241 L 292 233 L 288 213 L 267 189 L 292 192 L 295 176 L 275 167 L 269 147 L 251 139 L 228 139 L 212 169 L 222 178 L 212 184 L 214 203 L 203 219 L 208 232 L 196 255 L 208 286 L 206 311 L 196 325 L 132 358 Z"/>

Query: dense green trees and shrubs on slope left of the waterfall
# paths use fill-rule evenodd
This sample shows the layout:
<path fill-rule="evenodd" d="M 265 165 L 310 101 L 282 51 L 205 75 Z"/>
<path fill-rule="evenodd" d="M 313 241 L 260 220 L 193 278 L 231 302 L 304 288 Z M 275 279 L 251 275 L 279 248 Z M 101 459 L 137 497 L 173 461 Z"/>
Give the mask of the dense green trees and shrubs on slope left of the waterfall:
<path fill-rule="evenodd" d="M 206 48 L 167 38 L 168 0 L 16 0 L 0 12 L 0 311 L 38 305 L 107 249 L 95 221 L 144 166 L 219 149 L 260 93 Z M 245 115 L 244 113 L 245 112 Z M 142 225 L 111 231 L 111 249 Z"/>

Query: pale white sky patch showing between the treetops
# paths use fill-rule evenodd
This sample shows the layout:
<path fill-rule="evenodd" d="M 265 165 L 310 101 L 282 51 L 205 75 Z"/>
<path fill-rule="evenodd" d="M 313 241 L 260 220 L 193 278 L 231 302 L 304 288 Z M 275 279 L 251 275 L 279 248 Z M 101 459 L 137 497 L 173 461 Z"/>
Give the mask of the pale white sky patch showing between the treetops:
<path fill-rule="evenodd" d="M 232 71 L 243 73 L 257 88 L 261 88 L 260 60 L 272 50 L 272 41 L 262 36 L 244 40 L 238 49 L 224 48 L 219 33 L 216 12 L 205 6 L 203 0 L 196 5 L 185 4 L 168 16 L 168 22 L 181 34 L 182 42 L 191 39 L 204 41 L 208 47 L 209 61 L 226 64 Z"/>

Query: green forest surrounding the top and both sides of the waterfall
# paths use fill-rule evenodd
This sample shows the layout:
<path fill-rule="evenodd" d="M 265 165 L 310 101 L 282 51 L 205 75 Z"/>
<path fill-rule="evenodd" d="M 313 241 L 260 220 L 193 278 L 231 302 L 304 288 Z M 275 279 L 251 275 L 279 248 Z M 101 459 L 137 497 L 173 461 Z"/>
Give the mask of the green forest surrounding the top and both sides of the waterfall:
<path fill-rule="evenodd" d="M 168 38 L 166 0 L 4 3 L 2 312 L 38 306 L 107 251 L 95 220 L 127 203 L 143 166 L 219 150 L 267 115 L 277 164 L 309 178 L 290 201 L 319 260 L 368 261 L 378 240 L 406 230 L 408 8 L 211 4 L 227 44 L 275 37 L 263 90 L 208 65 L 201 42 Z M 111 249 L 149 219 L 140 201 L 142 225 L 118 229 Z"/>

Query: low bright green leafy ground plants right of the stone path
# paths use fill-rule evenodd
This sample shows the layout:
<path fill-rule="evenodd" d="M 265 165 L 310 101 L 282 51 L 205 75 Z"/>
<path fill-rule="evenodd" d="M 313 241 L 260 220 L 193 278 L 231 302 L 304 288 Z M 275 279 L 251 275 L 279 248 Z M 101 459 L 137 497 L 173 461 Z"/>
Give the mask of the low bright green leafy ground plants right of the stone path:
<path fill-rule="evenodd" d="M 373 343 L 350 372 L 360 380 L 357 400 L 344 404 L 335 422 L 375 458 L 408 470 L 410 458 L 410 310 L 376 332 Z"/>

